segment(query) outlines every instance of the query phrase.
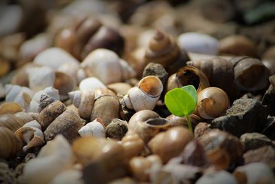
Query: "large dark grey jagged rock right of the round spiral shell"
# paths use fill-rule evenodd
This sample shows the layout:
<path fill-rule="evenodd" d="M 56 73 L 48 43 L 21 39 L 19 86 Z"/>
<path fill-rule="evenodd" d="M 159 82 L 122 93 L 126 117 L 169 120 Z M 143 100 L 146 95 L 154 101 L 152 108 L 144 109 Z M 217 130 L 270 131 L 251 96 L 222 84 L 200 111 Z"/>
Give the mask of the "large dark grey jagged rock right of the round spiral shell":
<path fill-rule="evenodd" d="M 258 132 L 267 119 L 267 109 L 255 99 L 237 99 L 232 107 L 212 121 L 210 127 L 219 128 L 235 136 Z"/>

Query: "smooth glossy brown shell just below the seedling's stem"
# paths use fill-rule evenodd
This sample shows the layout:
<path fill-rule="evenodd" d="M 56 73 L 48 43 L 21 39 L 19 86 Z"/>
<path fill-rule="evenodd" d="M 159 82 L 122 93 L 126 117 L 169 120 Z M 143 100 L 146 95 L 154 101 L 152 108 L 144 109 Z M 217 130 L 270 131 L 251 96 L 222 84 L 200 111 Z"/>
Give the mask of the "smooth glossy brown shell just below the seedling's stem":
<path fill-rule="evenodd" d="M 193 139 L 192 133 L 185 127 L 171 127 L 166 132 L 160 132 L 148 143 L 153 154 L 157 154 L 163 163 L 179 155 L 184 147 Z"/>

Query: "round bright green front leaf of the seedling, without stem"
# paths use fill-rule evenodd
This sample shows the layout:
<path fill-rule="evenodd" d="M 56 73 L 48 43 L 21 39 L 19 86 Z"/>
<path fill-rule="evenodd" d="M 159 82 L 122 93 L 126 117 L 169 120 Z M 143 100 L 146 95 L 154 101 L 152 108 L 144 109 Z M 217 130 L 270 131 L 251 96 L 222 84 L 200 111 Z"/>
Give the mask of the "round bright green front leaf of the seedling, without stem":
<path fill-rule="evenodd" d="M 164 101 L 168 110 L 175 116 L 182 117 L 192 114 L 196 108 L 192 96 L 181 88 L 175 88 L 167 92 Z"/>

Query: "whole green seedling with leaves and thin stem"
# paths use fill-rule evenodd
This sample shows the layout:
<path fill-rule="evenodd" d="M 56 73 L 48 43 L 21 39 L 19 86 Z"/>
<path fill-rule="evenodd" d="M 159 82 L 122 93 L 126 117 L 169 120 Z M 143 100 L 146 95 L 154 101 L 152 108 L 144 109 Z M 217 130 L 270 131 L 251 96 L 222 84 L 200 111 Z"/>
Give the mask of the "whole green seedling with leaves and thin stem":
<path fill-rule="evenodd" d="M 196 88 L 193 85 L 186 85 L 170 90 L 165 94 L 164 102 L 168 110 L 175 116 L 186 116 L 189 131 L 192 132 L 189 115 L 195 111 L 197 106 Z"/>

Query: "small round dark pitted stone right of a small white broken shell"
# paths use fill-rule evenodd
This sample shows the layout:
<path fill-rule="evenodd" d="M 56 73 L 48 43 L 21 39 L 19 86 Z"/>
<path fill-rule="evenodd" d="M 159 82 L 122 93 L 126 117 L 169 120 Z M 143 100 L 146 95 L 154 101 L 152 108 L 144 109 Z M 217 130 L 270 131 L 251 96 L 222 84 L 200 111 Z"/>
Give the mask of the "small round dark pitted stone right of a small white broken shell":
<path fill-rule="evenodd" d="M 121 140 L 128 131 L 128 123 L 121 119 L 113 119 L 106 127 L 106 136 L 111 139 Z"/>

